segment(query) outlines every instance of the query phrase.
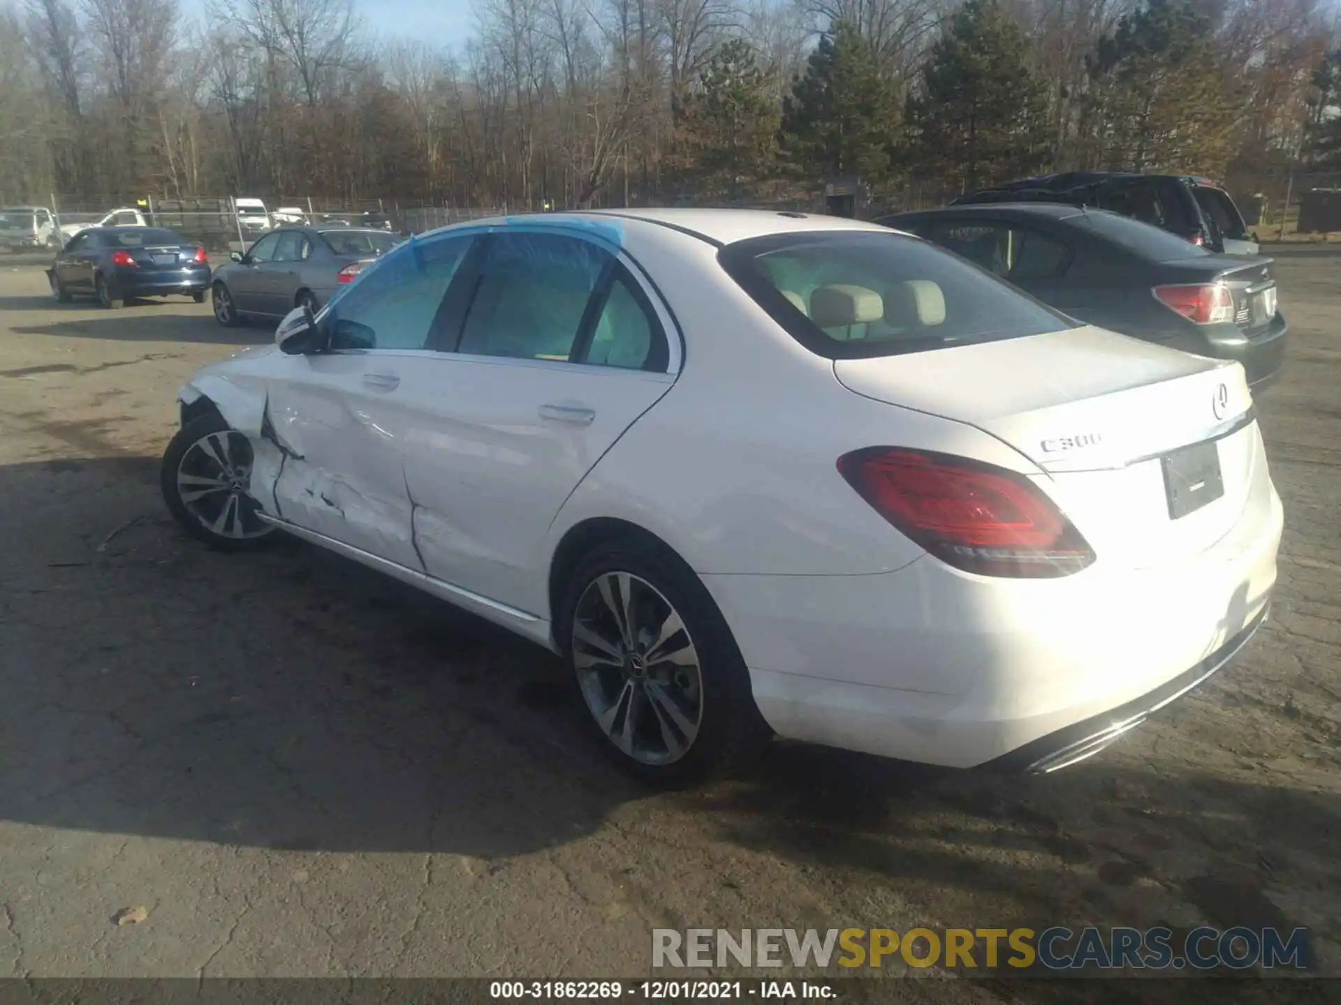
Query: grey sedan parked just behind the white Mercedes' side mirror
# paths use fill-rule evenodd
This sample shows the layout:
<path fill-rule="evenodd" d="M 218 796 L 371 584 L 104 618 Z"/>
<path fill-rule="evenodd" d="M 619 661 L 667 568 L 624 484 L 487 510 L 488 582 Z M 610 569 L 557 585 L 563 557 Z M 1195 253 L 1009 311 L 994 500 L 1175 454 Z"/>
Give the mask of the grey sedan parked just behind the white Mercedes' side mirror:
<path fill-rule="evenodd" d="M 295 307 L 319 311 L 331 295 L 400 243 L 386 230 L 283 226 L 215 271 L 211 295 L 220 324 L 278 319 Z"/>

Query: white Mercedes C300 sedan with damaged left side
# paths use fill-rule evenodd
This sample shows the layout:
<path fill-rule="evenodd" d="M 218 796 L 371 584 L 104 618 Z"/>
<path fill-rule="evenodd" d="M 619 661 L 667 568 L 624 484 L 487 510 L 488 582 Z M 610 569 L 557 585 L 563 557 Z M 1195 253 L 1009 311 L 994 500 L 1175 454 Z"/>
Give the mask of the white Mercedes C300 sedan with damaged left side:
<path fill-rule="evenodd" d="M 1243 368 L 882 226 L 618 210 L 417 237 L 180 391 L 168 507 L 562 655 L 683 783 L 782 737 L 1054 770 L 1267 614 Z"/>

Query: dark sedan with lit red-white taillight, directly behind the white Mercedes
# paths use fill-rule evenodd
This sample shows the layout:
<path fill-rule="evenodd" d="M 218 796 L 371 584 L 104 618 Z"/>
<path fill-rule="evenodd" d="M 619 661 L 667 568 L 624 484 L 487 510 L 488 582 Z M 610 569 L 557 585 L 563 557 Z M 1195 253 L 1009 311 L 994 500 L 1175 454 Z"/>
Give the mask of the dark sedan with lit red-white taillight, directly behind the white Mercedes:
<path fill-rule="evenodd" d="M 949 248 L 1089 324 L 1243 363 L 1254 391 L 1275 379 L 1289 326 L 1275 263 L 1215 255 L 1102 209 L 960 205 L 880 220 Z"/>

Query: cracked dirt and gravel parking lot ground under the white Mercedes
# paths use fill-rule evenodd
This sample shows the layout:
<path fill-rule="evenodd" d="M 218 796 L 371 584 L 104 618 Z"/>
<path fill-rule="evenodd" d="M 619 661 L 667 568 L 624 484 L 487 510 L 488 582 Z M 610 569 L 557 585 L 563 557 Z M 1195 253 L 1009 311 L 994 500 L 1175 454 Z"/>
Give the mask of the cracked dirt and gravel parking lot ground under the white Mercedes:
<path fill-rule="evenodd" d="M 1274 253 L 1286 536 L 1231 669 L 1053 777 L 779 744 L 677 795 L 589 749 L 547 654 L 315 549 L 177 531 L 176 389 L 267 330 L 60 307 L 0 259 L 0 977 L 632 977 L 653 927 L 1058 923 L 1302 925 L 1341 976 L 1341 251 Z"/>

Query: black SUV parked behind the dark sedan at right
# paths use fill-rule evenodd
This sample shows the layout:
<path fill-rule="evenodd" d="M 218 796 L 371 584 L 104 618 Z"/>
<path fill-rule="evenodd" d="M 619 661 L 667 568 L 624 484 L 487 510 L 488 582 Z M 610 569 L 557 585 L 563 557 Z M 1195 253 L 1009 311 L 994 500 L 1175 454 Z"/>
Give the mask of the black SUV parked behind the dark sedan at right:
<path fill-rule="evenodd" d="M 1067 172 L 1023 178 L 960 196 L 951 205 L 978 202 L 1063 202 L 1097 206 L 1159 226 L 1192 244 L 1230 255 L 1257 255 L 1234 200 L 1199 174 Z"/>

